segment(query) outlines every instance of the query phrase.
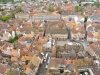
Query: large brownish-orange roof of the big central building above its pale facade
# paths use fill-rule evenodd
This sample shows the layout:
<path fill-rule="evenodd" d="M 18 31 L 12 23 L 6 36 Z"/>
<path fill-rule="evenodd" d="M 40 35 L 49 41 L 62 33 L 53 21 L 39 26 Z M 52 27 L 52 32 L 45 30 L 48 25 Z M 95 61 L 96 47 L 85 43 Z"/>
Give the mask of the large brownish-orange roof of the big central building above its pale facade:
<path fill-rule="evenodd" d="M 63 21 L 48 22 L 47 33 L 50 34 L 67 34 L 67 27 Z"/>

